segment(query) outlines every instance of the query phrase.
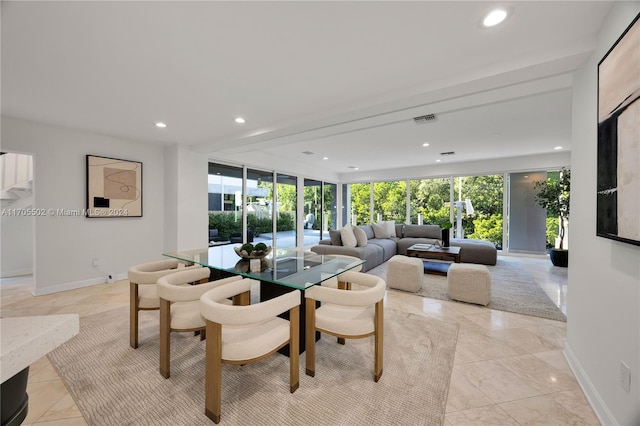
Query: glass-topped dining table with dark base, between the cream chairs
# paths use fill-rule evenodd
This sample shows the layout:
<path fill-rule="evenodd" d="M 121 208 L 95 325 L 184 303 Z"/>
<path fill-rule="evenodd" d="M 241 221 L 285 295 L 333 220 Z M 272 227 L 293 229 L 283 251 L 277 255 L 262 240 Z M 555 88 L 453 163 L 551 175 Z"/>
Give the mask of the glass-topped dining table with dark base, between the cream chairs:
<path fill-rule="evenodd" d="M 305 343 L 304 291 L 314 285 L 337 278 L 343 272 L 357 268 L 365 260 L 334 255 L 320 255 L 309 251 L 274 249 L 263 259 L 242 259 L 235 252 L 236 245 L 221 245 L 202 249 L 163 253 L 186 264 L 197 264 L 211 270 L 211 279 L 241 275 L 260 282 L 260 301 L 300 290 L 300 352 Z M 259 262 L 259 263 L 257 263 Z M 319 303 L 319 302 L 318 302 Z M 288 314 L 283 315 L 288 319 Z M 316 333 L 316 340 L 320 333 Z M 280 350 L 288 355 L 289 347 Z"/>

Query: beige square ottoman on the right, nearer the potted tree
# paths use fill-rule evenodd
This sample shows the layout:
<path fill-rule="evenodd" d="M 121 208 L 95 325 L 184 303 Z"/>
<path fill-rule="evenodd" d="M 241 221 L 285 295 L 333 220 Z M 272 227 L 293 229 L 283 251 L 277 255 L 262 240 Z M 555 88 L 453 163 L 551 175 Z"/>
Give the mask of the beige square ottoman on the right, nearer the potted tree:
<path fill-rule="evenodd" d="M 484 265 L 454 263 L 449 268 L 447 283 L 453 300 L 484 306 L 491 302 L 491 275 Z"/>

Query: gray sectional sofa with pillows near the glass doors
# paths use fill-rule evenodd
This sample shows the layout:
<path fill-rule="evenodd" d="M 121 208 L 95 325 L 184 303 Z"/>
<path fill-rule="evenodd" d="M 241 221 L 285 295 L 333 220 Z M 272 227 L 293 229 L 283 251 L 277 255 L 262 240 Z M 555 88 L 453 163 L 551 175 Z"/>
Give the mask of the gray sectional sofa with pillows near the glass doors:
<path fill-rule="evenodd" d="M 442 230 L 438 225 L 395 225 L 396 236 L 376 238 L 371 225 L 358 225 L 367 235 L 365 245 L 345 247 L 342 245 L 340 231 L 329 231 L 331 239 L 321 240 L 311 247 L 318 254 L 341 254 L 354 256 L 367 262 L 362 265 L 368 271 L 391 259 L 396 254 L 406 255 L 407 249 L 414 244 L 433 244 L 441 240 Z M 495 265 L 498 251 L 488 241 L 452 238 L 450 244 L 460 247 L 460 262 Z"/>

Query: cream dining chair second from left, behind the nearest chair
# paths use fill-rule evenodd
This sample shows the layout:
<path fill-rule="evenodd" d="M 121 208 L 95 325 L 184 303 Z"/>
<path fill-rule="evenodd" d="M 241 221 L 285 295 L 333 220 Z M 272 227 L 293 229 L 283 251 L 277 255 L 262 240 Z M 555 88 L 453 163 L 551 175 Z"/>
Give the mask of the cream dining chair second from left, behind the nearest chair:
<path fill-rule="evenodd" d="M 158 280 L 160 298 L 160 374 L 171 375 L 171 332 L 199 332 L 204 339 L 205 320 L 200 315 L 200 296 L 214 287 L 242 280 L 239 275 L 209 281 L 209 268 L 165 275 Z M 239 303 L 249 303 L 248 294 Z M 224 300 L 220 303 L 231 303 Z"/>

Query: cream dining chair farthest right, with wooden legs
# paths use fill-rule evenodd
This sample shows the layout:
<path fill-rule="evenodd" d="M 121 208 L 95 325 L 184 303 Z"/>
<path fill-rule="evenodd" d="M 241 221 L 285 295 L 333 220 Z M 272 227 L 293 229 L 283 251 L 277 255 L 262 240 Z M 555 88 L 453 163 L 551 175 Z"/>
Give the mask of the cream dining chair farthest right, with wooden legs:
<path fill-rule="evenodd" d="M 305 291 L 306 373 L 315 376 L 316 331 L 338 339 L 374 336 L 373 377 L 377 382 L 383 366 L 386 283 L 375 275 L 353 271 L 341 274 L 340 281 L 352 284 L 351 289 L 313 286 Z M 319 308 L 316 301 L 322 302 Z"/>

